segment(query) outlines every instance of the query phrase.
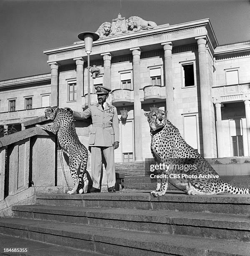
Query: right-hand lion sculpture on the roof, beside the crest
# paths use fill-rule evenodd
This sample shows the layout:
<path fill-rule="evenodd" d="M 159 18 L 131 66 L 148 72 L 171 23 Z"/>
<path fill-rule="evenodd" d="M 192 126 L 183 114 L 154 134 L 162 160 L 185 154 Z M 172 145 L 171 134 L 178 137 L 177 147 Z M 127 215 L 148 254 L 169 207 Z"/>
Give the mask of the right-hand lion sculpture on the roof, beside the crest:
<path fill-rule="evenodd" d="M 156 28 L 157 26 L 155 22 L 143 20 L 138 16 L 131 16 L 130 18 L 128 18 L 128 20 L 126 20 L 126 22 L 128 24 L 128 30 L 134 32 L 140 31 L 141 29 L 147 30 Z"/>

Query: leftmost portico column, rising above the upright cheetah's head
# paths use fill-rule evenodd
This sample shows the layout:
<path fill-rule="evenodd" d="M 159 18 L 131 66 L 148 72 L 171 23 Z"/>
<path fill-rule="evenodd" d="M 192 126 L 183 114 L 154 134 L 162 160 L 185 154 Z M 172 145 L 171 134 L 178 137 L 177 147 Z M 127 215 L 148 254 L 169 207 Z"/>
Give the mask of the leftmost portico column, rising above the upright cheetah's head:
<path fill-rule="evenodd" d="M 50 64 L 51 67 L 51 95 L 50 105 L 51 107 L 58 106 L 58 64 L 53 62 Z"/>

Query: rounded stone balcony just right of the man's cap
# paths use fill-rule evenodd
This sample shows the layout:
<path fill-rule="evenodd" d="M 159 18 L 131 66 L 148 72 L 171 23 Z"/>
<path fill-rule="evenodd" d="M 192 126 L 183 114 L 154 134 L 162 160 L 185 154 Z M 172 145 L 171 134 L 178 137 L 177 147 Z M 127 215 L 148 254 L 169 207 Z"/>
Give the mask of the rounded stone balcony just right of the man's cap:
<path fill-rule="evenodd" d="M 123 104 L 126 106 L 133 105 L 134 93 L 129 89 L 116 89 L 112 91 L 112 105 L 120 107 Z"/>

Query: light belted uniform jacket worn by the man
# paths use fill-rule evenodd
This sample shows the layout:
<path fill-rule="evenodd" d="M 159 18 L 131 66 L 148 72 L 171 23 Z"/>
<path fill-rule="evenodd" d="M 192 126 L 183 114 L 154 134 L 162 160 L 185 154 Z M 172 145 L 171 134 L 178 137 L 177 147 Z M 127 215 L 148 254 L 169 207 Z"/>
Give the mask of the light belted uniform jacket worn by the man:
<path fill-rule="evenodd" d="M 92 128 L 89 136 L 89 146 L 113 146 L 114 141 L 119 141 L 119 121 L 117 110 L 114 106 L 107 105 L 102 110 L 102 105 L 90 105 L 81 112 L 74 111 L 74 118 L 85 119 L 92 117 Z"/>

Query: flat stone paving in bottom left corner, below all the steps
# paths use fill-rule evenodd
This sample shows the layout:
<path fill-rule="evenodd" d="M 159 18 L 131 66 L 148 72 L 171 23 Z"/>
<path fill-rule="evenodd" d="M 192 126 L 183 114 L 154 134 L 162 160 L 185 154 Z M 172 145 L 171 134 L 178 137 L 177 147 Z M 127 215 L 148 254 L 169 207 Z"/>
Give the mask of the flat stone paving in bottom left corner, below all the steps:
<path fill-rule="evenodd" d="M 27 241 L 23 238 L 0 234 L 0 255 L 27 255 L 27 256 L 107 256 L 107 254 L 92 251 L 83 251 L 72 247 L 60 246 L 52 243 Z M 24 252 L 9 252 L 9 249 L 24 249 Z M 5 249 L 5 250 L 4 250 Z M 25 252 L 27 249 L 27 252 Z"/>

